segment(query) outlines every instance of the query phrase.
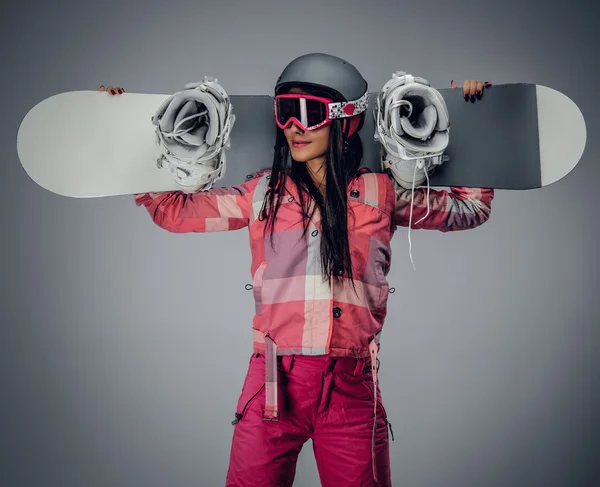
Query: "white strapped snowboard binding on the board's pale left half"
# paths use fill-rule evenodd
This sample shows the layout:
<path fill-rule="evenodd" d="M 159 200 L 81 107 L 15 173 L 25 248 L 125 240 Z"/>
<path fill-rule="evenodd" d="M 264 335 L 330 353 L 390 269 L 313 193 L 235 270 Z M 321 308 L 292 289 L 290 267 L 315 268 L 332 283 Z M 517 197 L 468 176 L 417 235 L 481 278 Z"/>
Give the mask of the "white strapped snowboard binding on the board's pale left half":
<path fill-rule="evenodd" d="M 218 80 L 205 77 L 171 95 L 152 117 L 167 169 L 182 191 L 210 189 L 225 175 L 225 149 L 235 123 L 233 106 Z"/>

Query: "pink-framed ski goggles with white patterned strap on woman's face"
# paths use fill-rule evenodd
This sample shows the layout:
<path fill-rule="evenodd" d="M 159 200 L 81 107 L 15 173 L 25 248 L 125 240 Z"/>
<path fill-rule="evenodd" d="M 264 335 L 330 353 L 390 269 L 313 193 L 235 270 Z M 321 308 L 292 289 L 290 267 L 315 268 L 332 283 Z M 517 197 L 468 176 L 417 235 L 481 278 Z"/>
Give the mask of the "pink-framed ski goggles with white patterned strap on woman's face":
<path fill-rule="evenodd" d="M 367 109 L 367 105 L 367 93 L 356 101 L 337 103 L 329 98 L 312 95 L 277 95 L 275 120 L 281 129 L 295 123 L 302 130 L 316 130 L 329 125 L 336 118 L 358 115 Z"/>

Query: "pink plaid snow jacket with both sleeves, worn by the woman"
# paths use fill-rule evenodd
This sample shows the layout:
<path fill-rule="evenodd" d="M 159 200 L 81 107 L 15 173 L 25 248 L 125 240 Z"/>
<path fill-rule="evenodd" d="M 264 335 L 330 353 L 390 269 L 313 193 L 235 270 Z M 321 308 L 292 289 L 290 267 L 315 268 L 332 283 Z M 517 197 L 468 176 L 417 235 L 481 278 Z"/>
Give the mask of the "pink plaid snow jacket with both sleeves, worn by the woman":
<path fill-rule="evenodd" d="M 351 283 L 323 282 L 320 220 L 316 212 L 305 237 L 297 188 L 288 183 L 277 214 L 274 249 L 258 216 L 270 171 L 243 184 L 196 194 L 180 191 L 135 195 L 155 224 L 170 232 L 218 232 L 248 227 L 255 299 L 254 351 L 265 353 L 265 337 L 278 355 L 367 357 L 387 312 L 390 241 L 397 226 L 408 226 L 411 190 L 387 173 L 362 169 L 348 186 L 348 225 L 356 294 Z M 491 189 L 415 189 L 413 227 L 442 232 L 466 230 L 490 216 Z"/>

